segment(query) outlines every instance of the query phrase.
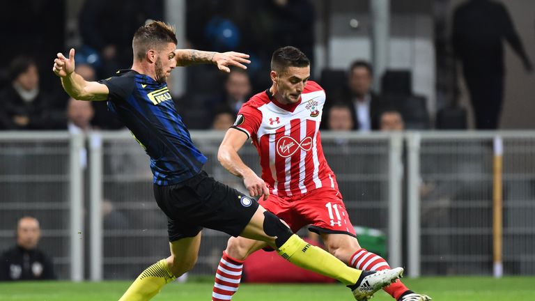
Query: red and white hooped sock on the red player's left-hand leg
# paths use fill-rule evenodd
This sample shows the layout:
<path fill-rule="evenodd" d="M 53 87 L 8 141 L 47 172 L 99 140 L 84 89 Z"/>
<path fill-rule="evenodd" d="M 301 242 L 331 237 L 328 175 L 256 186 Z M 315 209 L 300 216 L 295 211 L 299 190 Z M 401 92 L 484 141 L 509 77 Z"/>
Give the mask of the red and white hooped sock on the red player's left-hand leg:
<path fill-rule="evenodd" d="M 212 301 L 231 300 L 232 295 L 238 291 L 242 279 L 243 261 L 228 256 L 223 252 L 217 272 L 215 273 Z"/>

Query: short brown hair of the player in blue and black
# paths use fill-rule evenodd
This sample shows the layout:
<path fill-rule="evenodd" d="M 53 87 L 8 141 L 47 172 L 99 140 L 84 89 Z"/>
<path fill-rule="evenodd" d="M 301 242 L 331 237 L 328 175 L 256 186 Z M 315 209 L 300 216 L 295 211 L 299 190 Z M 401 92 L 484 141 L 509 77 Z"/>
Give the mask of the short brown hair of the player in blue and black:
<path fill-rule="evenodd" d="M 134 49 L 134 58 L 138 61 L 144 59 L 146 52 L 150 48 L 157 48 L 162 44 L 177 44 L 175 28 L 161 21 L 153 21 L 139 27 L 134 38 L 132 38 L 132 49 Z"/>

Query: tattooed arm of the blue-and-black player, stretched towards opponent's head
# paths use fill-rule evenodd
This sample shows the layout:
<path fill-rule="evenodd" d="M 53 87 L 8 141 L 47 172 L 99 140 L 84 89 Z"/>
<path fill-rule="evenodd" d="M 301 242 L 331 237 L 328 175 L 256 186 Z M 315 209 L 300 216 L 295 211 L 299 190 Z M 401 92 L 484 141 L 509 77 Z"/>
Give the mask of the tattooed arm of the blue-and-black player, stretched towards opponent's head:
<path fill-rule="evenodd" d="M 249 54 L 242 54 L 240 52 L 205 52 L 195 49 L 176 49 L 175 50 L 176 65 L 187 66 L 202 63 L 213 63 L 217 65 L 219 70 L 224 72 L 231 72 L 230 66 L 236 66 L 242 69 L 247 69 L 244 63 L 251 63 L 247 58 Z"/>

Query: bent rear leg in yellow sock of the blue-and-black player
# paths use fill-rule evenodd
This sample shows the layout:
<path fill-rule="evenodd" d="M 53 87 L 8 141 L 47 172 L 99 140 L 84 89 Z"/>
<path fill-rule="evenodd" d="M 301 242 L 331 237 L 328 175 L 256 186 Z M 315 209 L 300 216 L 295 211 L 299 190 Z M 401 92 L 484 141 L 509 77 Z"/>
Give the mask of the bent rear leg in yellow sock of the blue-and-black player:
<path fill-rule="evenodd" d="M 200 244 L 201 232 L 194 237 L 169 242 L 171 256 L 141 272 L 119 301 L 146 301 L 153 298 L 165 284 L 193 268 Z"/>

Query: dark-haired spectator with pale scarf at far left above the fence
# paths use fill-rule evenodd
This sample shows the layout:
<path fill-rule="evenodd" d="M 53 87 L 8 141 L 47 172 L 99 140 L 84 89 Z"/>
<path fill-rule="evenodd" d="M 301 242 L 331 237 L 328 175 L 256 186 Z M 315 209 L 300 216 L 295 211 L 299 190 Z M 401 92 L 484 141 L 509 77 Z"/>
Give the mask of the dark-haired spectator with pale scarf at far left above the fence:
<path fill-rule="evenodd" d="M 10 65 L 11 85 L 0 91 L 0 107 L 10 130 L 56 130 L 65 128 L 64 105 L 40 89 L 38 68 L 29 57 L 20 56 Z"/>

